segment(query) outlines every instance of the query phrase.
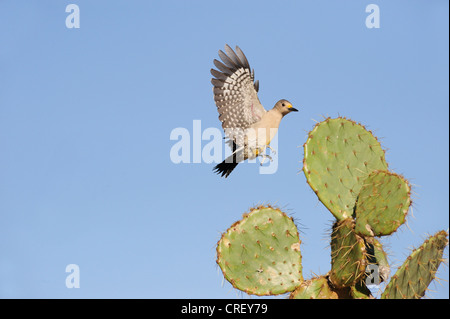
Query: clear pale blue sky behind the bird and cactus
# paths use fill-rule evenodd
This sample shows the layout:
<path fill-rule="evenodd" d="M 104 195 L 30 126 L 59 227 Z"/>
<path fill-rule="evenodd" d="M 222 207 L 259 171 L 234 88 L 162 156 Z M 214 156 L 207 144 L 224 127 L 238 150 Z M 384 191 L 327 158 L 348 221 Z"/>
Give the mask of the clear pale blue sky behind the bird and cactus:
<path fill-rule="evenodd" d="M 66 5 L 80 8 L 68 29 Z M 368 29 L 365 8 L 380 8 Z M 0 1 L 0 297 L 245 298 L 221 232 L 272 203 L 301 229 L 306 278 L 330 269 L 333 217 L 301 172 L 323 116 L 361 122 L 413 184 L 382 242 L 393 271 L 449 224 L 448 1 Z M 177 127 L 220 128 L 209 70 L 239 45 L 266 109 L 286 98 L 278 170 L 170 159 Z M 192 135 L 191 135 L 192 138 Z M 205 145 L 203 141 L 202 145 Z M 446 256 L 448 253 L 446 252 Z M 68 289 L 65 268 L 80 267 Z M 448 267 L 431 298 L 448 298 Z"/>

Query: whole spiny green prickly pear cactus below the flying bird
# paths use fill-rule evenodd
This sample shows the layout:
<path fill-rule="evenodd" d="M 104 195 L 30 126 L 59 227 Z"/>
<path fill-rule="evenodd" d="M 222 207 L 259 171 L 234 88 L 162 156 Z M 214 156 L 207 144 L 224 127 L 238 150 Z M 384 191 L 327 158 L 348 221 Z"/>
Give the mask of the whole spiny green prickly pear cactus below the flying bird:
<path fill-rule="evenodd" d="M 234 223 L 217 244 L 217 263 L 225 278 L 255 295 L 290 292 L 291 299 L 374 298 L 366 283 L 387 282 L 390 274 L 377 238 L 405 223 L 412 203 L 409 182 L 388 170 L 385 151 L 372 132 L 342 117 L 327 118 L 308 134 L 303 172 L 336 219 L 330 271 L 304 280 L 301 242 L 292 218 L 272 206 L 259 206 Z M 440 231 L 414 250 L 381 298 L 423 297 L 443 261 L 447 237 L 446 231 Z"/>

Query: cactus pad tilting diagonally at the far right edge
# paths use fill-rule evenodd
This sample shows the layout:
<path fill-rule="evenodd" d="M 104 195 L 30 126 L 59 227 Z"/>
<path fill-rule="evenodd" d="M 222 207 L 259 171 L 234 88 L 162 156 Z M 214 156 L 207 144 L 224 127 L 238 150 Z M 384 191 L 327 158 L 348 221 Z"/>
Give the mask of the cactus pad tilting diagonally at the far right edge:
<path fill-rule="evenodd" d="M 386 286 L 382 299 L 419 299 L 425 295 L 428 285 L 435 278 L 443 261 L 448 244 L 444 230 L 430 236 L 419 248 L 413 250 Z"/>

